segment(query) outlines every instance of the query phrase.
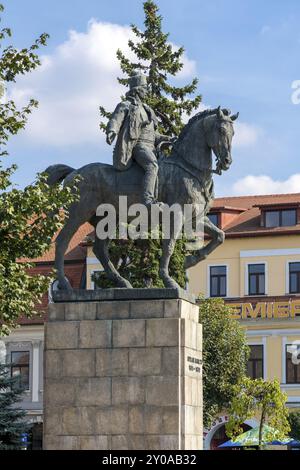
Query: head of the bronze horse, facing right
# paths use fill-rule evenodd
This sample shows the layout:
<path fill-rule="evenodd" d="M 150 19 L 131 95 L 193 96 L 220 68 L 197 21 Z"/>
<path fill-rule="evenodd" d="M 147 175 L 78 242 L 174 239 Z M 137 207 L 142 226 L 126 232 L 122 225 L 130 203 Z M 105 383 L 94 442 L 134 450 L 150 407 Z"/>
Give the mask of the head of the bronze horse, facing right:
<path fill-rule="evenodd" d="M 217 158 L 217 173 L 226 171 L 232 163 L 231 142 L 234 136 L 233 122 L 239 113 L 230 116 L 229 110 L 217 109 L 216 114 L 203 120 L 207 145 Z"/>

